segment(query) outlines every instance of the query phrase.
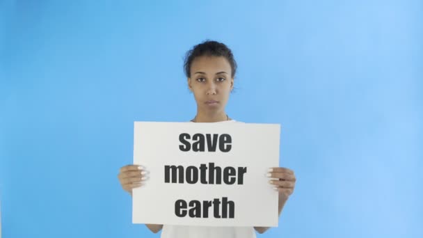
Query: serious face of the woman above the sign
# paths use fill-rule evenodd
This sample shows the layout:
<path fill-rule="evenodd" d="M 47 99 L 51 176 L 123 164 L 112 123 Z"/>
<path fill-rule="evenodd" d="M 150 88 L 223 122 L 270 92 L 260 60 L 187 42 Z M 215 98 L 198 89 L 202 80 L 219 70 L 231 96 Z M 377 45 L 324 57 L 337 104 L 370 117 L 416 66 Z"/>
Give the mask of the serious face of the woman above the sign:
<path fill-rule="evenodd" d="M 194 93 L 198 110 L 225 111 L 230 91 L 234 87 L 232 68 L 223 56 L 200 56 L 191 63 L 189 89 Z"/>

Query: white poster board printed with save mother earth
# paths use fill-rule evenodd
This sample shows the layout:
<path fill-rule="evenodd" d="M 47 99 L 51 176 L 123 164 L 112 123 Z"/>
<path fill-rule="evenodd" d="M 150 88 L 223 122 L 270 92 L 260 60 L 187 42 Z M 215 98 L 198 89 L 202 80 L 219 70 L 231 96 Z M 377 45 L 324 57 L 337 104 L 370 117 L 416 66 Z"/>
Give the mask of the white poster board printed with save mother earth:
<path fill-rule="evenodd" d="M 134 164 L 150 178 L 133 190 L 133 223 L 278 226 L 265 175 L 279 146 L 280 125 L 134 122 Z"/>

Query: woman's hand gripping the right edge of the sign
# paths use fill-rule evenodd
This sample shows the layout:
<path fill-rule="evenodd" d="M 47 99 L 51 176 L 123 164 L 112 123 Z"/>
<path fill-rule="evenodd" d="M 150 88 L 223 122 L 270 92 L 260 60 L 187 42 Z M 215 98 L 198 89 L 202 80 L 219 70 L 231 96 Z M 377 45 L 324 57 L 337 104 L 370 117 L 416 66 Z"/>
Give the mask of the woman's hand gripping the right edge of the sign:
<path fill-rule="evenodd" d="M 270 168 L 267 177 L 270 178 L 269 183 L 279 192 L 279 195 L 286 200 L 294 192 L 296 177 L 294 171 L 289 168 L 274 167 Z"/>

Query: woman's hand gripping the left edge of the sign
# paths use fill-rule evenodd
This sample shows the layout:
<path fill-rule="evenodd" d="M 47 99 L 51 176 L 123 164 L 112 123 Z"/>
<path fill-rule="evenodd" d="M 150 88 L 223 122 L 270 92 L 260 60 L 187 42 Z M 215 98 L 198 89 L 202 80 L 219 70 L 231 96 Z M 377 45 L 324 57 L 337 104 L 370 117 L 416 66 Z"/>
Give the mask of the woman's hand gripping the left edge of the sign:
<path fill-rule="evenodd" d="M 143 166 L 127 165 L 120 168 L 118 178 L 122 189 L 132 195 L 132 189 L 143 186 L 143 182 L 148 179 L 147 174 Z"/>

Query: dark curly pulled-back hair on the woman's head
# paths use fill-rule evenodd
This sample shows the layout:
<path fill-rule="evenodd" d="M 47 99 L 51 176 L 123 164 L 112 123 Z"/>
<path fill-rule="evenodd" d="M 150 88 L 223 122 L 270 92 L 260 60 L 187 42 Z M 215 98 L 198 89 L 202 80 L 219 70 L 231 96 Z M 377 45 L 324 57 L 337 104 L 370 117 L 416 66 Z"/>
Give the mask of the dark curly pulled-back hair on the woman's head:
<path fill-rule="evenodd" d="M 223 56 L 225 57 L 230 67 L 232 68 L 232 78 L 237 72 L 237 62 L 234 59 L 232 51 L 223 43 L 214 40 L 205 40 L 204 42 L 195 45 L 193 49 L 186 52 L 184 60 L 184 71 L 186 77 L 191 77 L 191 64 L 196 57 L 200 56 Z"/>

